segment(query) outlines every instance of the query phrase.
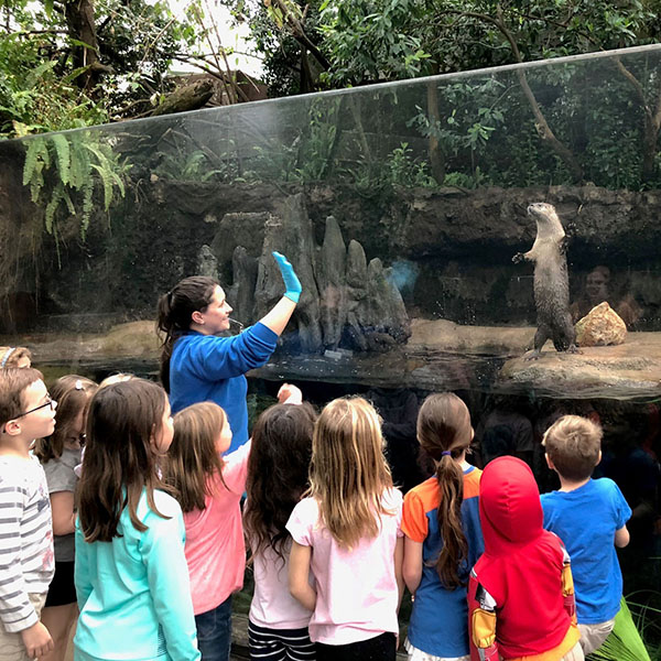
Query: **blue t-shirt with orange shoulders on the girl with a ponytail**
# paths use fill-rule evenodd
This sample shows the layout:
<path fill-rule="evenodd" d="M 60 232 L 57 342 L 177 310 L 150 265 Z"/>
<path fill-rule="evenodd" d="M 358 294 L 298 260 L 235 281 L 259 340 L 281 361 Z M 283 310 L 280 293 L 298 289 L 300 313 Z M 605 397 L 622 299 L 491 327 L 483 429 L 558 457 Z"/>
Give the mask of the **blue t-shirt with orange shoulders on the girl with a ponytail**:
<path fill-rule="evenodd" d="M 402 531 L 422 543 L 422 577 L 415 590 L 409 640 L 434 657 L 464 657 L 468 648 L 468 603 L 466 584 L 470 568 L 484 553 L 485 543 L 479 522 L 479 479 L 481 470 L 464 472 L 462 527 L 468 542 L 467 562 L 458 568 L 464 585 L 447 589 L 441 583 L 436 562 L 443 549 L 437 508 L 441 500 L 438 480 L 431 477 L 411 489 L 404 498 Z"/>

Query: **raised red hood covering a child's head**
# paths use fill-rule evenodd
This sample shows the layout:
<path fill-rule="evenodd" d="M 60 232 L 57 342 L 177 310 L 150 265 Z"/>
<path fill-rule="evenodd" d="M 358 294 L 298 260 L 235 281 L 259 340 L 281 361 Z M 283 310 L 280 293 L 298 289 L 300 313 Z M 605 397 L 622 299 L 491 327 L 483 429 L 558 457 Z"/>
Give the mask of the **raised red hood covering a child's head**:
<path fill-rule="evenodd" d="M 485 552 L 498 556 L 537 540 L 544 514 L 532 470 L 516 457 L 499 457 L 485 468 L 479 488 Z"/>

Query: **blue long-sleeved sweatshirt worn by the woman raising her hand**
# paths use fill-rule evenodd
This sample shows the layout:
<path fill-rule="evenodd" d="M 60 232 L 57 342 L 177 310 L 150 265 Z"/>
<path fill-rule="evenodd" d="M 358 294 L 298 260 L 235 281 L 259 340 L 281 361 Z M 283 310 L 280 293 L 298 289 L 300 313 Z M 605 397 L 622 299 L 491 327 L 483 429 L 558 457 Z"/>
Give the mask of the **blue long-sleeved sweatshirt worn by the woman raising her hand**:
<path fill-rule="evenodd" d="M 248 370 L 264 365 L 275 349 L 278 335 L 261 323 L 234 337 L 191 330 L 180 337 L 170 359 L 172 412 L 197 402 L 216 402 L 227 413 L 232 440 L 227 453 L 248 441 Z"/>

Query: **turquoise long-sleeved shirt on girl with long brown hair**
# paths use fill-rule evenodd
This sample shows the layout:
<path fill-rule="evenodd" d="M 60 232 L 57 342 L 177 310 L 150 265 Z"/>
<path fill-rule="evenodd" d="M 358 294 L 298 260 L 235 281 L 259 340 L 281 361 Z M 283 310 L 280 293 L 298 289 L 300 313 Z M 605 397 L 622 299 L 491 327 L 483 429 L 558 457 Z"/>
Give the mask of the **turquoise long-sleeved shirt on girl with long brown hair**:
<path fill-rule="evenodd" d="M 182 510 L 171 496 L 154 491 L 156 509 L 138 505 L 148 529 L 136 530 L 128 509 L 110 542 L 88 543 L 76 521 L 75 583 L 80 617 L 74 638 L 76 660 L 197 661 L 197 635 Z"/>

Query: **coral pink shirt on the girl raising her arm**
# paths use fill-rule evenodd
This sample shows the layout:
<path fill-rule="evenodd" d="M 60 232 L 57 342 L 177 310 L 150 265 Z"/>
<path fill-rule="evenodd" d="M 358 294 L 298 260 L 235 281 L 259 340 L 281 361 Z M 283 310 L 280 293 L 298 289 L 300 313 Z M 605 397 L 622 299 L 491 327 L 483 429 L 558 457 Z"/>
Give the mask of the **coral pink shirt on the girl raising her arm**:
<path fill-rule="evenodd" d="M 223 478 L 228 489 L 216 478 L 206 508 L 184 513 L 195 615 L 216 608 L 243 585 L 246 544 L 239 502 L 246 490 L 250 445 L 248 442 L 224 457 Z"/>

